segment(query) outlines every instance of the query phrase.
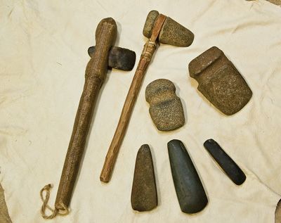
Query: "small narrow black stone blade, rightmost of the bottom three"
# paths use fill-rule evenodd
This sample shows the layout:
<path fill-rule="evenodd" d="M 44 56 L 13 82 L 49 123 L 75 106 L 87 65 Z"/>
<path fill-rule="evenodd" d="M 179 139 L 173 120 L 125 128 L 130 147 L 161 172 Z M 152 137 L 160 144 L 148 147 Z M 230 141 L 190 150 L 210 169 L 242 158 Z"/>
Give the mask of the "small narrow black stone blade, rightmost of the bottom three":
<path fill-rule="evenodd" d="M 221 148 L 214 139 L 208 139 L 204 142 L 204 147 L 210 155 L 216 160 L 216 163 L 223 169 L 226 175 L 233 181 L 234 184 L 243 184 L 246 180 L 246 175 L 233 161 L 232 158 Z"/>

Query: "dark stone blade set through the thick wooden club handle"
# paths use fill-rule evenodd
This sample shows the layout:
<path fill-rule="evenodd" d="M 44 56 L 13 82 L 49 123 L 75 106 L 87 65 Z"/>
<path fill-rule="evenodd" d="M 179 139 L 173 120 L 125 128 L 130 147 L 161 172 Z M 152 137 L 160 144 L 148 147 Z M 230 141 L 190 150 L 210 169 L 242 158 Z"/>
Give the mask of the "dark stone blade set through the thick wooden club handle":
<path fill-rule="evenodd" d="M 95 46 L 88 49 L 89 56 L 93 57 Z M 136 53 L 129 49 L 112 46 L 109 52 L 108 66 L 118 70 L 132 70 L 136 62 Z"/>

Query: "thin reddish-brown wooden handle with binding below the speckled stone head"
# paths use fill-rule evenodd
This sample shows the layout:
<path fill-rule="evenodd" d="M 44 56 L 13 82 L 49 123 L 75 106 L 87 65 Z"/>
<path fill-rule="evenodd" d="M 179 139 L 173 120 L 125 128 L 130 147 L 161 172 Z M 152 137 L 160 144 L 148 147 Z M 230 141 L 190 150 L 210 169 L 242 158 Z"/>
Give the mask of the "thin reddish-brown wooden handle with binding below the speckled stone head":
<path fill-rule="evenodd" d="M 133 111 L 133 106 L 136 103 L 136 98 L 138 97 L 138 92 L 141 89 L 141 84 L 143 83 L 143 78 L 145 77 L 145 71 L 150 64 L 150 60 L 153 56 L 153 53 L 156 49 L 156 39 L 161 31 L 162 25 L 166 19 L 165 15 L 160 14 L 155 22 L 155 26 L 152 30 L 152 35 L 149 41 L 145 44 L 143 48 L 143 53 L 141 55 L 141 59 L 138 62 L 138 68 L 136 69 L 136 73 L 133 76 L 133 80 L 131 82 L 131 87 L 126 96 L 126 100 L 122 109 L 121 116 L 119 118 L 119 122 L 117 128 L 115 130 L 115 134 L 110 144 L 110 148 L 108 148 L 107 155 L 105 158 L 105 163 L 103 164 L 103 170 L 100 173 L 100 181 L 108 182 L 110 181 L 112 170 L 115 165 L 117 155 L 119 153 L 119 148 L 122 144 L 122 140 L 124 139 L 124 134 L 126 132 L 126 128 L 129 125 L 129 120 L 131 117 L 131 113 Z"/>

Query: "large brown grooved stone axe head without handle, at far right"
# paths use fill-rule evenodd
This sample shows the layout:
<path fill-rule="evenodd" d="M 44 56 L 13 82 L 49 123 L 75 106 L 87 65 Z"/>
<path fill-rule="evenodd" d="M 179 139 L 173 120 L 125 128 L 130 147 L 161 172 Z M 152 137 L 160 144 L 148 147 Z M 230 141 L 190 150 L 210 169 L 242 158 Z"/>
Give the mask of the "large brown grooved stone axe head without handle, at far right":
<path fill-rule="evenodd" d="M 188 69 L 199 84 L 197 89 L 226 115 L 237 113 L 251 98 L 247 82 L 216 46 L 193 59 Z"/>

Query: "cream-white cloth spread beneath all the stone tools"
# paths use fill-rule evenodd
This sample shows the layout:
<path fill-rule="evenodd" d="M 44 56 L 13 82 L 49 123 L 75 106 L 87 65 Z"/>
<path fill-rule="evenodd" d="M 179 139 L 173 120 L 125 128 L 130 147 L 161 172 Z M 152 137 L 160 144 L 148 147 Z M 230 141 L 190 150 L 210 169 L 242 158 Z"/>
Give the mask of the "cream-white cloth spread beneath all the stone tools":
<path fill-rule="evenodd" d="M 115 132 L 131 72 L 112 70 L 100 91 L 70 215 L 50 222 L 274 222 L 281 194 L 281 8 L 266 1 L 8 1 L 0 4 L 0 182 L 13 222 L 41 218 L 40 189 L 54 185 L 53 206 L 74 116 L 102 18 L 117 21 L 117 46 L 141 55 L 142 30 L 150 10 L 188 27 L 188 48 L 162 44 L 143 82 L 110 183 L 100 170 Z M 197 91 L 188 63 L 218 46 L 253 91 L 239 113 L 227 117 Z M 185 125 L 159 132 L 145 101 L 155 79 L 176 84 Z M 247 175 L 235 186 L 202 144 L 213 138 Z M 209 204 L 196 215 L 181 212 L 171 177 L 166 143 L 181 139 L 194 160 Z M 131 209 L 136 153 L 149 144 L 155 164 L 159 205 L 145 213 Z"/>

